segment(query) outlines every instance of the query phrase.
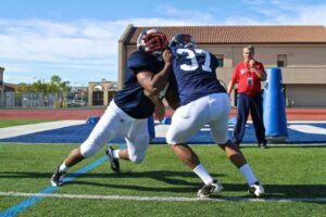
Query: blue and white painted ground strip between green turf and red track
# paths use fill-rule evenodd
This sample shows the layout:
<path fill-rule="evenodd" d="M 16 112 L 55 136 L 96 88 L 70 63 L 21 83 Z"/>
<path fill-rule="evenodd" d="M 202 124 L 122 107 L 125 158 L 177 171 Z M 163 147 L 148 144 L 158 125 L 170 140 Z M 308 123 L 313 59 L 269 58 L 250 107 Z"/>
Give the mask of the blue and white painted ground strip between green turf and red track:
<path fill-rule="evenodd" d="M 234 123 L 229 122 L 229 135 L 233 133 Z M 93 124 L 87 125 L 85 120 L 61 120 L 16 127 L 0 128 L 0 142 L 20 143 L 80 143 L 87 139 Z M 165 135 L 168 125 L 155 123 L 155 139 L 152 143 L 165 144 Z M 325 143 L 326 122 L 288 122 L 288 138 L 286 143 Z M 124 143 L 123 138 L 116 138 L 111 143 Z M 214 143 L 209 126 L 203 127 L 191 137 L 189 143 Z M 249 122 L 246 127 L 243 143 L 256 143 L 254 128 Z"/>

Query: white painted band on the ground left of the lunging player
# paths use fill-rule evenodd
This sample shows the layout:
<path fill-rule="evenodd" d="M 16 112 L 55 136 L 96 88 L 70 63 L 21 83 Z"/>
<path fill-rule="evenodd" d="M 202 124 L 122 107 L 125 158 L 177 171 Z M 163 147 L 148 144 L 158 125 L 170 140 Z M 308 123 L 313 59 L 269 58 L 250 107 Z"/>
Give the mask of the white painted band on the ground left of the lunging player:
<path fill-rule="evenodd" d="M 86 120 L 59 120 L 0 128 L 0 139 L 85 124 Z"/>

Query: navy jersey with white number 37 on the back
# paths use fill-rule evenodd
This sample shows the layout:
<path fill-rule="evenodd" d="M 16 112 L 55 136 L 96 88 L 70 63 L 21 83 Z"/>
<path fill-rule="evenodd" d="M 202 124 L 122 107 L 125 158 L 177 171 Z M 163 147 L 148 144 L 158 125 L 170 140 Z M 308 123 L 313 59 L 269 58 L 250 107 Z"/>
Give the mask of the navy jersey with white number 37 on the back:
<path fill-rule="evenodd" d="M 180 104 L 204 95 L 226 92 L 215 73 L 217 59 L 202 49 L 173 49 L 173 72 L 177 81 Z"/>

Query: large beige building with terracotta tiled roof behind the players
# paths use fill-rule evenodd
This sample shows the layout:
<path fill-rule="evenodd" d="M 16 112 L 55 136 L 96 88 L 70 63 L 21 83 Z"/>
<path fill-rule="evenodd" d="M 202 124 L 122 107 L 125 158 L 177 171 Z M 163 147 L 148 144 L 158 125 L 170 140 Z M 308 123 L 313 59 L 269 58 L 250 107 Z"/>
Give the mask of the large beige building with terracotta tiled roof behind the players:
<path fill-rule="evenodd" d="M 324 26 L 186 26 L 135 27 L 129 25 L 118 41 L 118 88 L 124 81 L 127 56 L 136 50 L 143 29 L 158 28 L 171 39 L 190 34 L 199 48 L 215 54 L 222 67 L 217 77 L 228 84 L 242 48 L 255 47 L 255 59 L 266 68 L 280 67 L 287 106 L 326 106 L 326 28 Z M 233 104 L 234 99 L 233 98 Z"/>

